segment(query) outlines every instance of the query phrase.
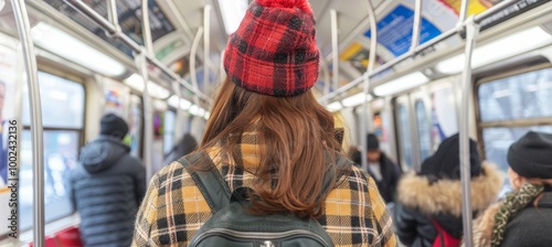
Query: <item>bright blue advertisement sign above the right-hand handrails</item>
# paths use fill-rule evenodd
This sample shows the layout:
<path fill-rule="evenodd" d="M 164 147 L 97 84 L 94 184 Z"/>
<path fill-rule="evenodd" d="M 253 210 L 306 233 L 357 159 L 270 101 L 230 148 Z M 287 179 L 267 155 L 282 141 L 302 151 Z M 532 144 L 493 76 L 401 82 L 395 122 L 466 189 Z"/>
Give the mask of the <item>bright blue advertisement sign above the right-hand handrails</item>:
<path fill-rule="evenodd" d="M 413 23 L 414 11 L 399 4 L 378 22 L 378 43 L 385 46 L 395 56 L 406 53 L 412 42 Z M 440 31 L 425 18 L 422 18 L 420 28 L 421 44 L 440 34 Z M 370 30 L 364 35 L 370 37 Z"/>

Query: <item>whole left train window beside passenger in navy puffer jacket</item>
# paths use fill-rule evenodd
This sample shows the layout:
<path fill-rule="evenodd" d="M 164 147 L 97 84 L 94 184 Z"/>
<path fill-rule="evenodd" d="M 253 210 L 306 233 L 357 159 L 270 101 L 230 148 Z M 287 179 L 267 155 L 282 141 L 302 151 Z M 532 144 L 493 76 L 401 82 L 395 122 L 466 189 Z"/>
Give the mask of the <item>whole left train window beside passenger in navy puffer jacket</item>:
<path fill-rule="evenodd" d="M 44 218 L 52 222 L 74 212 L 65 191 L 65 180 L 75 167 L 84 128 L 85 92 L 81 84 L 39 72 L 44 147 Z M 32 227 L 33 164 L 29 96 L 23 99 L 23 131 L 20 163 L 20 229 Z"/>

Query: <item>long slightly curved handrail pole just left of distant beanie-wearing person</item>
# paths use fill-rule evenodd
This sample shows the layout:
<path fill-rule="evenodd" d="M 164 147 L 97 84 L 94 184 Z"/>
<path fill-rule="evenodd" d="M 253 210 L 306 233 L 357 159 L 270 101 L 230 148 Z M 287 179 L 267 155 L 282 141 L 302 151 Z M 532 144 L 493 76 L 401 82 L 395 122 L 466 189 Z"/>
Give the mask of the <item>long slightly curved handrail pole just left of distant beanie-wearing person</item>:
<path fill-rule="evenodd" d="M 372 73 L 374 69 L 374 64 L 375 64 L 375 53 L 376 53 L 376 47 L 378 47 L 378 23 L 375 20 L 375 11 L 374 7 L 372 4 L 372 0 L 367 0 L 368 2 L 368 14 L 370 18 L 370 55 L 368 58 L 368 67 L 367 67 L 367 74 Z M 365 153 L 368 150 L 368 115 L 369 112 L 369 107 L 368 107 L 368 93 L 370 89 L 370 76 L 363 76 L 364 78 L 364 85 L 362 88 L 362 94 L 364 95 L 364 103 L 362 104 L 362 117 L 361 117 L 361 125 L 360 125 L 360 132 L 361 132 L 361 138 L 360 138 L 360 143 L 362 146 L 362 151 L 361 153 Z M 362 168 L 368 169 L 368 160 L 365 158 L 365 154 L 362 155 Z"/>

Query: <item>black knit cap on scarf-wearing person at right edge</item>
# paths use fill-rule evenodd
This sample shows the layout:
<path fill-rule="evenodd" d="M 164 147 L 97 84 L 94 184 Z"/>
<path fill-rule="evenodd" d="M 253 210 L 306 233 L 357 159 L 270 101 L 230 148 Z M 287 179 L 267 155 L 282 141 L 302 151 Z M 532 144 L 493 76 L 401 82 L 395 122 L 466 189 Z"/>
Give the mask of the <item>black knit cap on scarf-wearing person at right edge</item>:
<path fill-rule="evenodd" d="M 529 131 L 508 150 L 508 163 L 528 179 L 552 179 L 552 135 Z"/>

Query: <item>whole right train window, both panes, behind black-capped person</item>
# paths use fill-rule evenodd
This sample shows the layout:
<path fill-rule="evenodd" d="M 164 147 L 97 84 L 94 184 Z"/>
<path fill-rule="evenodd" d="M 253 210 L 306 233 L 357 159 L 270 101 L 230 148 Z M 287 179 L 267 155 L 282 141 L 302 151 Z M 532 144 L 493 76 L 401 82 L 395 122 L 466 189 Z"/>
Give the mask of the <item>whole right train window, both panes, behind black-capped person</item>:
<path fill-rule="evenodd" d="M 545 107 L 552 105 L 552 68 L 541 66 L 481 80 L 488 80 L 477 89 L 485 158 L 507 171 L 508 149 L 513 141 L 529 130 L 552 133 L 552 108 Z M 503 192 L 509 186 L 508 180 L 505 185 Z"/>

